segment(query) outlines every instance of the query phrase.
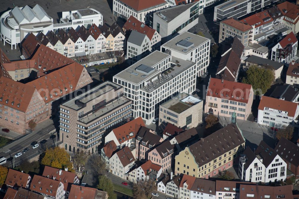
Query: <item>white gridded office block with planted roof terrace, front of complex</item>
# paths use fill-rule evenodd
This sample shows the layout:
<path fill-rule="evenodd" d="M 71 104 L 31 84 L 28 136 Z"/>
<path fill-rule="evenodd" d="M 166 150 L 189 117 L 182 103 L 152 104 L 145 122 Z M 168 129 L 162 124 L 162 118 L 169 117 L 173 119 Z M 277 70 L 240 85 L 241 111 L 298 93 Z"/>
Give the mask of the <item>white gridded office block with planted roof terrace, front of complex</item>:
<path fill-rule="evenodd" d="M 177 92 L 195 90 L 196 65 L 167 53 L 154 51 L 113 76 L 113 82 L 124 87 L 124 96 L 133 101 L 133 117 L 152 123 L 159 105 Z"/>

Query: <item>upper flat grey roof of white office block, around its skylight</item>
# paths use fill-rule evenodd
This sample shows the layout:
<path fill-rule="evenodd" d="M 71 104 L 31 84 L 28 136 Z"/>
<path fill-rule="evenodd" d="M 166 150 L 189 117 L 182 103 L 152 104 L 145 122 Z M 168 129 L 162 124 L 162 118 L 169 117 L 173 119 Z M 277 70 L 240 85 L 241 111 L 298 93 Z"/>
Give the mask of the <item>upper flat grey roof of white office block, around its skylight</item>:
<path fill-rule="evenodd" d="M 142 64 L 149 66 L 149 67 L 153 67 L 153 66 L 157 65 L 159 62 L 161 62 L 161 60 L 166 59 L 169 56 L 170 55 L 168 55 L 166 53 L 162 53 L 162 52 L 156 50 L 153 53 L 150 53 L 148 56 L 144 57 L 143 59 L 140 59 L 135 64 L 129 66 L 125 70 L 116 74 L 115 77 L 138 85 L 140 82 L 147 79 L 148 77 L 157 75 L 160 71 L 154 69 L 153 72 L 151 72 L 149 75 L 145 76 L 146 75 L 145 73 L 136 71 L 136 68 L 138 68 Z"/>

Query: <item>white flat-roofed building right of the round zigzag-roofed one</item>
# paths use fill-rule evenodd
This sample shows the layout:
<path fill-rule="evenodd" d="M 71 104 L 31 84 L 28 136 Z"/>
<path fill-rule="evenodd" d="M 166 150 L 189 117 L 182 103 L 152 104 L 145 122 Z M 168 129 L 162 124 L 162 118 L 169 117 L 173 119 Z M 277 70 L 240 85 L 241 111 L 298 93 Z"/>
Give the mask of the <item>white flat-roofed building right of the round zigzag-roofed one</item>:
<path fill-rule="evenodd" d="M 65 11 L 62 12 L 60 22 L 53 25 L 53 32 L 56 33 L 60 29 L 67 32 L 71 27 L 76 30 L 82 25 L 88 29 L 92 24 L 103 25 L 103 15 L 93 8 Z"/>

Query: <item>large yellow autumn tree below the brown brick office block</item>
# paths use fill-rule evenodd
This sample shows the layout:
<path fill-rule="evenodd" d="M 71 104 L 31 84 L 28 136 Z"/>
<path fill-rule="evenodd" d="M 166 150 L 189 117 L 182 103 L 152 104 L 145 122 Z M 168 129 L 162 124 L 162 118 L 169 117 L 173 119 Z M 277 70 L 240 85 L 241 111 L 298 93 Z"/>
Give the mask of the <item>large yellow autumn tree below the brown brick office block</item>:
<path fill-rule="evenodd" d="M 58 146 L 46 150 L 45 156 L 42 158 L 42 164 L 59 169 L 68 168 L 68 171 L 74 172 L 70 155 Z"/>

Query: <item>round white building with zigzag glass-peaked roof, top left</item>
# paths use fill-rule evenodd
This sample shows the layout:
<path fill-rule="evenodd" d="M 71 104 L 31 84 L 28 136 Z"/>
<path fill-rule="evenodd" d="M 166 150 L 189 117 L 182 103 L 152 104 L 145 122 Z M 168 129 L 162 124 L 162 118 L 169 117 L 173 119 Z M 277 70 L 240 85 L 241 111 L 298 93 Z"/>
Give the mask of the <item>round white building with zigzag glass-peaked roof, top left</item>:
<path fill-rule="evenodd" d="M 16 48 L 28 33 L 37 35 L 39 32 L 47 34 L 53 30 L 53 19 L 48 16 L 42 7 L 36 4 L 33 8 L 14 7 L 4 12 L 0 22 L 0 38 L 3 43 L 8 43 L 11 49 Z"/>

